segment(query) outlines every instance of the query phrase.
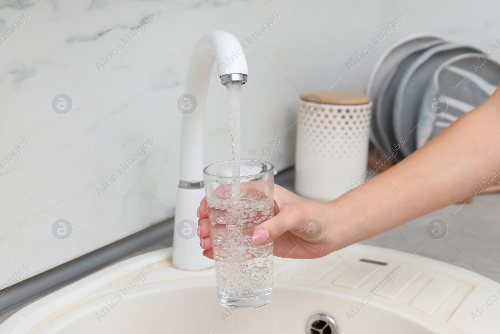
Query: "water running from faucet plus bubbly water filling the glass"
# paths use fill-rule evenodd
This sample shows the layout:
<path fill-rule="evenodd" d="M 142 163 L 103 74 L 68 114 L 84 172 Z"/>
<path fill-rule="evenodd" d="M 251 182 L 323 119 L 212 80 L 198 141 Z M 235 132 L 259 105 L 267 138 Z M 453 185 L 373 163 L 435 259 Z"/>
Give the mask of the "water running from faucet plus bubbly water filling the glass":
<path fill-rule="evenodd" d="M 231 118 L 231 186 L 207 194 L 219 300 L 235 308 L 252 308 L 272 298 L 272 243 L 254 245 L 253 231 L 273 215 L 273 201 L 258 186 L 240 187 L 241 82 L 226 84 Z"/>

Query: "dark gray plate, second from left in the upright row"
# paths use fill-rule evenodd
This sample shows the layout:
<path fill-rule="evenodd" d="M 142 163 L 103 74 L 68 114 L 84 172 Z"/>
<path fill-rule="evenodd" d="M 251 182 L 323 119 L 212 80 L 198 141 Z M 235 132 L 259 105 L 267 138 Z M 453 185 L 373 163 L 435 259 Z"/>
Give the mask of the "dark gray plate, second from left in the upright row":
<path fill-rule="evenodd" d="M 429 48 L 442 43 L 444 42 L 440 40 L 427 42 L 426 44 L 420 45 L 419 49 L 413 51 L 413 53 L 406 56 L 398 64 L 394 62 L 396 66 L 393 68 L 392 73 L 388 74 L 385 81 L 380 85 L 378 97 L 376 99 L 375 125 L 380 136 L 382 151 L 385 153 L 392 153 L 391 155 L 393 155 L 394 148 L 397 147 L 397 138 L 395 138 L 392 128 L 392 107 L 400 81 L 411 64 L 413 64 L 420 55 Z M 402 154 L 397 154 L 396 152 L 394 159 L 396 161 L 401 161 Z"/>

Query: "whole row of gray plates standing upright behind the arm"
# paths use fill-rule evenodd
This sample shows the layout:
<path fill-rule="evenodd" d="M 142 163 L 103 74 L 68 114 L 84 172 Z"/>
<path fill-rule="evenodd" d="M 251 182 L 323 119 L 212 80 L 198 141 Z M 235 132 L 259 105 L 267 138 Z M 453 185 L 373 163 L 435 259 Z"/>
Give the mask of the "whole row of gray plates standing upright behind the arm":
<path fill-rule="evenodd" d="M 500 84 L 500 65 L 471 46 L 412 35 L 391 46 L 371 73 L 370 138 L 400 161 Z"/>

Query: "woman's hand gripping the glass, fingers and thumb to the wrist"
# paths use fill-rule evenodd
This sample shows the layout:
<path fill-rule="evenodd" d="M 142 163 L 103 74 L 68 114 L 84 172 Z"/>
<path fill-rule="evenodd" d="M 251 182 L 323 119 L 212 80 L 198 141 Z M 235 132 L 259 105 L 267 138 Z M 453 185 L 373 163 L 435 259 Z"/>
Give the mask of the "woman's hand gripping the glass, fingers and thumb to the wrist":
<path fill-rule="evenodd" d="M 330 224 L 327 223 L 333 207 L 333 202 L 307 200 L 274 185 L 274 216 L 253 231 L 252 243 L 262 245 L 274 241 L 274 255 L 280 257 L 324 256 L 333 251 L 328 238 Z M 201 201 L 196 214 L 203 255 L 213 258 L 206 198 Z"/>

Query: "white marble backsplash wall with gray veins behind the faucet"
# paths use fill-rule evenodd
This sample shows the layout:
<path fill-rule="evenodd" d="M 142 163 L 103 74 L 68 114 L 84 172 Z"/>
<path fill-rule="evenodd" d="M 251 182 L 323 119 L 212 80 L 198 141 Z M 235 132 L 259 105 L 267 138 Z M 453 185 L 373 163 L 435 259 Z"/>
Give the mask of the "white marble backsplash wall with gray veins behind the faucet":
<path fill-rule="evenodd" d="M 270 152 L 266 159 L 281 170 L 293 164 L 300 92 L 362 91 L 380 54 L 411 33 L 432 31 L 486 50 L 500 37 L 499 7 L 492 0 L 480 6 L 423 0 L 1 1 L 0 285 L 173 214 L 181 117 L 176 102 L 204 33 L 226 30 L 245 44 L 242 158 L 278 140 L 264 154 Z M 350 57 L 398 13 L 404 20 L 397 29 L 349 72 Z M 230 159 L 227 91 L 213 80 L 208 96 L 206 164 Z"/>

